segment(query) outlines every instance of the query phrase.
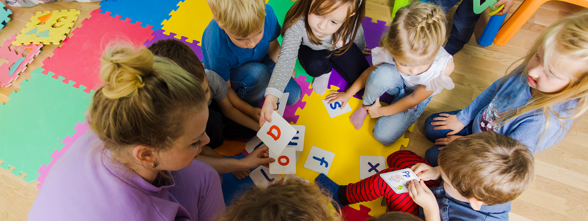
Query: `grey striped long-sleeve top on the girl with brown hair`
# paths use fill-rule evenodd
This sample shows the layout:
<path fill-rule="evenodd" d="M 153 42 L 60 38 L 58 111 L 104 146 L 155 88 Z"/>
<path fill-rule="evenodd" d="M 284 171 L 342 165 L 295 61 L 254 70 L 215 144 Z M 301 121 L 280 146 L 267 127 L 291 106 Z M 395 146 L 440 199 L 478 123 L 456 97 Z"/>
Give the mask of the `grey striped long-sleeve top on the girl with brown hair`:
<path fill-rule="evenodd" d="M 331 35 L 327 35 L 323 38 L 319 38 L 323 41 L 320 45 L 315 45 L 310 42 L 308 35 L 306 35 L 306 18 L 300 18 L 298 22 L 292 25 L 284 33 L 282 40 L 282 49 L 278 55 L 278 62 L 276 62 L 275 68 L 273 68 L 272 77 L 269 79 L 268 88 L 265 90 L 265 95 L 273 95 L 277 98 L 282 98 L 282 93 L 288 85 L 290 76 L 294 71 L 296 65 L 296 58 L 298 58 L 298 49 L 300 44 L 309 46 L 313 50 L 323 50 L 333 48 L 333 39 Z M 349 40 L 349 38 L 348 38 Z M 363 27 L 360 25 L 358 34 L 353 39 L 353 42 L 358 45 L 358 48 L 363 51 L 366 48 L 365 38 L 363 36 Z"/>

